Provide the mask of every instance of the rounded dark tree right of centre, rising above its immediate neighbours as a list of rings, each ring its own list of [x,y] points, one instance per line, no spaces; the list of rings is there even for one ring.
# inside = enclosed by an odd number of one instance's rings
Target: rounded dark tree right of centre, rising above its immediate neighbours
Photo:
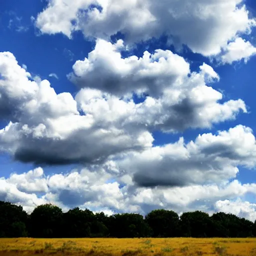
[[[145,216],[155,237],[175,237],[179,233],[179,217],[172,210],[156,209]]]

